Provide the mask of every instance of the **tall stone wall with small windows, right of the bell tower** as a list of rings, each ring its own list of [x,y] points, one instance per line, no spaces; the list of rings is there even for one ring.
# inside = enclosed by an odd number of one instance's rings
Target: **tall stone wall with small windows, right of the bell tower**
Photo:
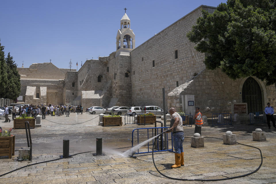
[[[162,107],[162,88],[168,93],[205,69],[204,53],[197,52],[186,37],[202,8],[215,10],[199,7],[131,51],[133,105]]]

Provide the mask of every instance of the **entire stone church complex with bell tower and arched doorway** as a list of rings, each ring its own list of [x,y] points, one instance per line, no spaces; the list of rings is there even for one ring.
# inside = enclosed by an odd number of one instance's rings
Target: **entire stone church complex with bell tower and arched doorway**
[[[205,54],[197,52],[186,37],[202,9],[212,13],[216,7],[201,5],[138,47],[125,13],[118,24],[116,51],[109,56],[87,60],[78,71],[52,63],[18,68],[20,100],[28,104],[81,104],[84,108],[162,108],[165,88],[168,108],[176,107],[186,114],[193,114],[195,106],[207,116],[231,112],[233,103],[247,103],[248,113],[264,111],[267,102],[275,106],[274,85],[265,86],[255,77],[234,81],[219,69],[206,69]]]

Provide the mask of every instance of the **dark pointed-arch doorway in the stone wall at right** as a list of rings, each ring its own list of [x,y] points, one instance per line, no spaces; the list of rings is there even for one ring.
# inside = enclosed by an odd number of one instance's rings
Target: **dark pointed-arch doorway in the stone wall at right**
[[[257,81],[248,77],[242,87],[242,102],[247,103],[248,113],[262,111],[262,92]]]

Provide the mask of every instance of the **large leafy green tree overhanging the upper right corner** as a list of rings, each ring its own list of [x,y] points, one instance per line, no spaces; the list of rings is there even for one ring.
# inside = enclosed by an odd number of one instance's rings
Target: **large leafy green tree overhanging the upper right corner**
[[[206,68],[221,68],[232,79],[256,76],[272,85],[275,30],[275,0],[228,0],[212,14],[202,11],[187,37],[197,51],[206,53]]]

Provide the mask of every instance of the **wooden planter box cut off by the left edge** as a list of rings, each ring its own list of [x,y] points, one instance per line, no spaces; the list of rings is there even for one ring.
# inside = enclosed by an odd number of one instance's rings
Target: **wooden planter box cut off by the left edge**
[[[14,143],[15,136],[0,137],[0,156],[9,156],[11,158],[14,155]]]

